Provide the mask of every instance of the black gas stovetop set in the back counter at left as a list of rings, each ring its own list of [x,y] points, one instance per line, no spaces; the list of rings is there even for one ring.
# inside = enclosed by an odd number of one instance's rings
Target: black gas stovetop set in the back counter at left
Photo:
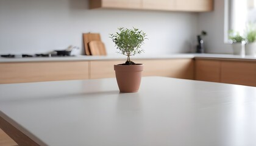
[[[4,55],[1,55],[1,57],[4,57],[4,58],[71,57],[71,56],[73,56],[73,55],[57,55],[57,54],[35,54],[35,55],[29,55],[29,54],[21,54],[21,55],[4,54]]]

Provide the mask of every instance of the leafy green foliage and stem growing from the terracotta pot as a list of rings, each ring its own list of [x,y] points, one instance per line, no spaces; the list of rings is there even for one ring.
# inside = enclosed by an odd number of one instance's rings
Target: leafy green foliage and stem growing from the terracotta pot
[[[135,63],[130,61],[130,56],[144,52],[141,46],[144,44],[143,41],[148,39],[145,38],[146,33],[134,27],[133,29],[124,29],[121,27],[118,30],[119,32],[110,34],[110,38],[112,38],[119,53],[127,56],[127,61],[124,64],[133,65]]]

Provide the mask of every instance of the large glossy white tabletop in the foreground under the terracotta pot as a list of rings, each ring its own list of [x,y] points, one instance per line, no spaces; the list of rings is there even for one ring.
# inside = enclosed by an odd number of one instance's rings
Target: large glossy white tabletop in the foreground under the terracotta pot
[[[0,111],[40,145],[256,145],[249,86],[143,77],[124,94],[115,78],[5,84]]]

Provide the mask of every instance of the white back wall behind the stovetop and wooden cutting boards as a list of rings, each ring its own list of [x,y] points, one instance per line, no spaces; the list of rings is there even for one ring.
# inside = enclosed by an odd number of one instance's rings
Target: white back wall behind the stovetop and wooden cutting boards
[[[143,46],[147,54],[189,52],[198,32],[197,16],[189,12],[88,10],[87,0],[0,0],[0,54],[46,53],[69,45],[79,46],[83,54],[82,33],[87,32],[100,33],[107,53],[116,54],[108,34],[132,26],[148,34]]]

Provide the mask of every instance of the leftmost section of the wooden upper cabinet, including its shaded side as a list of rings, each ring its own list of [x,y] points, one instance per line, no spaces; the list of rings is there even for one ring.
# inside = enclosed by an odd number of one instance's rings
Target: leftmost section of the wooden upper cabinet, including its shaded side
[[[141,9],[142,0],[90,0],[90,9],[118,8]]]

